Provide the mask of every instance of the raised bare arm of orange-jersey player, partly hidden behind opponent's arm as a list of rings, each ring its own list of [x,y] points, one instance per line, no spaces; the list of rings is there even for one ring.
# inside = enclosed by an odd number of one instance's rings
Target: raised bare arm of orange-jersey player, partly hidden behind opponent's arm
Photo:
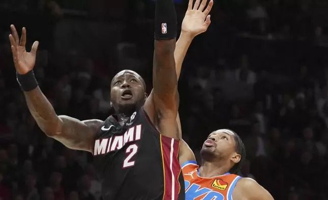
[[[178,79],[180,77],[182,62],[187,53],[187,49],[189,48],[190,43],[192,42],[194,37],[205,32],[209,24],[211,23],[210,15],[208,14],[212,9],[213,1],[210,0],[208,6],[204,10],[206,2],[207,0],[202,0],[202,3],[200,4],[200,0],[197,0],[195,2],[195,5],[193,6],[193,0],[189,0],[188,9],[182,21],[181,34],[176,43],[176,48],[174,52],[175,68]],[[195,161],[196,159],[192,149],[190,149],[188,144],[182,139],[179,114],[177,115],[177,123],[179,129],[179,137],[181,140],[179,162],[182,165],[187,161]]]

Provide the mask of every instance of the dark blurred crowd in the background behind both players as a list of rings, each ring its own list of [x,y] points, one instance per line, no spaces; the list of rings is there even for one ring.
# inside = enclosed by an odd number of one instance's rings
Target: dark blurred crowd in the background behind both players
[[[179,22],[186,4],[177,1]],[[104,120],[119,70],[139,72],[151,89],[153,8],[147,0],[1,1],[0,199],[101,198],[92,155],[47,138],[31,117],[10,24],[27,28],[28,46],[40,41],[35,74],[57,114]],[[243,177],[275,199],[328,199],[327,9],[325,0],[214,1],[179,81],[183,138],[199,161],[207,135],[229,128],[247,149]]]

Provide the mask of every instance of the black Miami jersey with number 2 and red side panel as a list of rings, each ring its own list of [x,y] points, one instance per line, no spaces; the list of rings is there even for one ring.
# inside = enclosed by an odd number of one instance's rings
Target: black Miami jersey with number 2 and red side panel
[[[116,116],[99,127],[94,167],[104,200],[184,200],[179,141],[160,135],[143,107],[121,126]]]

